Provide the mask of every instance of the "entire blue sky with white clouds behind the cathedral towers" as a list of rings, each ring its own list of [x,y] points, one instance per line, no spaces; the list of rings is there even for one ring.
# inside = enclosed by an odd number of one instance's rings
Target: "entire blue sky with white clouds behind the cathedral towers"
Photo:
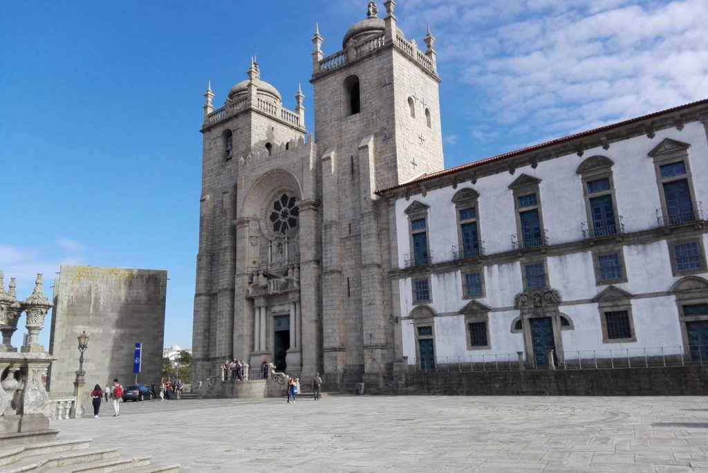
[[[378,2],[383,12],[382,1]],[[399,0],[437,42],[445,166],[708,96],[704,0]],[[341,48],[364,0],[5,2],[0,269],[29,295],[59,265],[169,273],[165,346],[192,345],[202,105],[263,79],[312,130],[312,33]],[[24,317],[21,325],[24,324]],[[47,327],[50,321],[47,319]],[[40,341],[48,346],[48,329]],[[18,336],[21,331],[18,330]],[[17,343],[17,338],[14,340]]]

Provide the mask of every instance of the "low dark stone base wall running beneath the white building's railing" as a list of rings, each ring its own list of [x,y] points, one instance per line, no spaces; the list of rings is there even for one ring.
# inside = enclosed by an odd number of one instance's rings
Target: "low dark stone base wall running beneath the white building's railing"
[[[380,393],[461,396],[703,396],[708,366],[409,373]]]

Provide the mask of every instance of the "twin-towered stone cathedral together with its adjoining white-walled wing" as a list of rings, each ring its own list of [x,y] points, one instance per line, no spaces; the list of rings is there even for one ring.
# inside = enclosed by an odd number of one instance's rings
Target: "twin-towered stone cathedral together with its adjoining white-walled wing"
[[[265,360],[376,392],[450,358],[708,346],[708,101],[445,170],[435,38],[383,6],[333,55],[314,33],[316,142],[256,62],[207,89],[193,379]]]

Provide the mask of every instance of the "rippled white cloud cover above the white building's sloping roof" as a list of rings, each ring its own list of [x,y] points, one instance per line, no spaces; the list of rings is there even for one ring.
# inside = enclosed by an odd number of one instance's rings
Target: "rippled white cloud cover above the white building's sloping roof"
[[[467,96],[457,103],[506,128],[506,142],[525,139],[514,132],[559,137],[707,95],[705,0],[410,0],[399,10],[413,17],[405,28],[430,22],[443,79]]]

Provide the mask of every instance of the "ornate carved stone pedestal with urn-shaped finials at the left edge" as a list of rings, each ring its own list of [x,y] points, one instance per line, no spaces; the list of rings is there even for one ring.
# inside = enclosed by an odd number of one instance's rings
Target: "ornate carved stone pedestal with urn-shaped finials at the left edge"
[[[38,342],[45,317],[52,302],[42,293],[42,275],[37,275],[35,289],[23,302],[16,295],[15,278],[5,292],[4,274],[0,271],[0,433],[45,431],[49,396],[42,374],[52,363],[52,356]],[[11,345],[20,315],[27,315],[27,343],[20,351]]]

